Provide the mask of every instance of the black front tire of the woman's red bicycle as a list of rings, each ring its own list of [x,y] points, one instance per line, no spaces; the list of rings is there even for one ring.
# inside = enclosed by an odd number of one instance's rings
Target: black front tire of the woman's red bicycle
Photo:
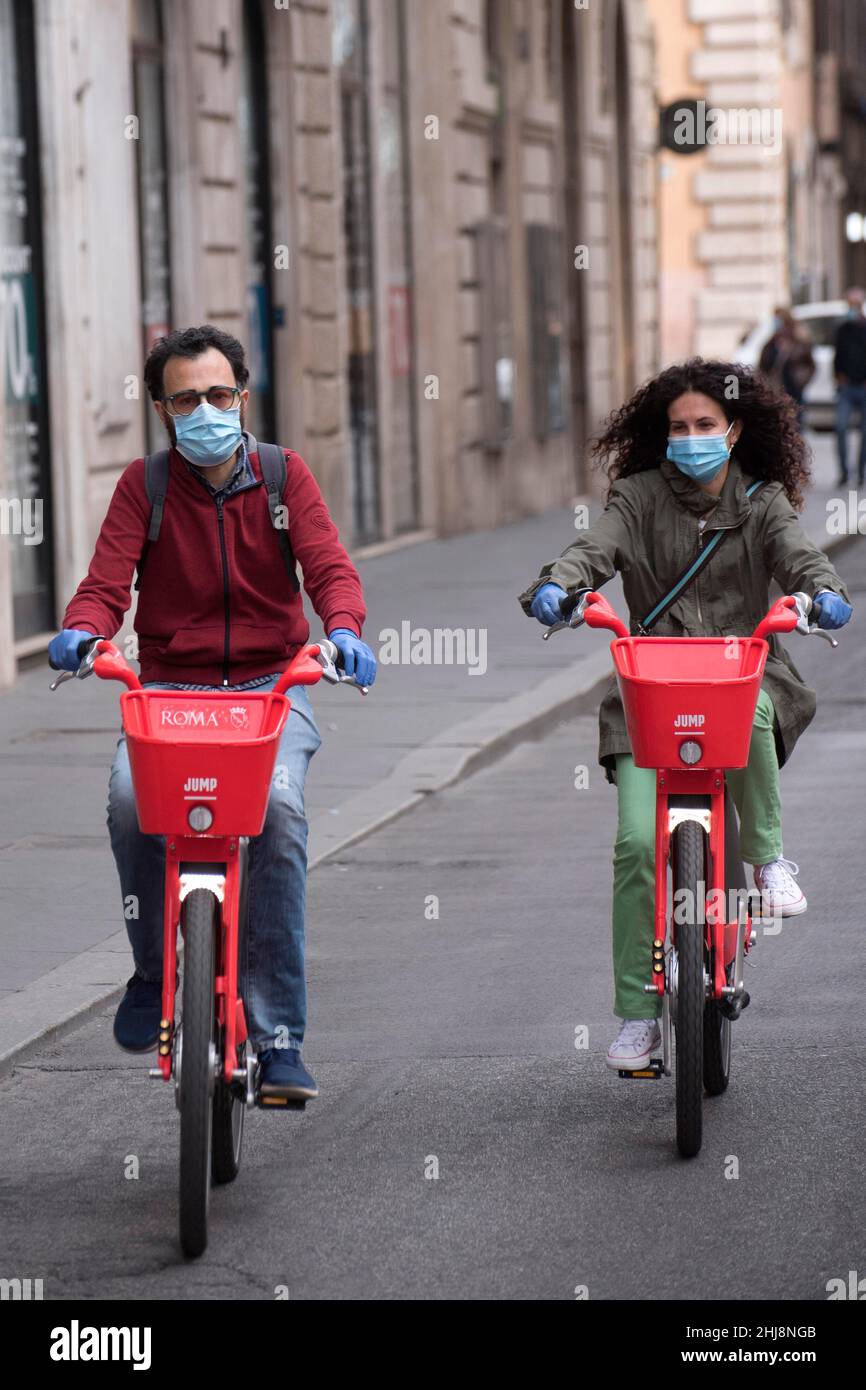
[[[677,948],[677,1148],[683,1158],[701,1150],[703,1127],[703,935],[698,912],[705,895],[705,833],[684,820],[674,833],[674,887],[678,903]],[[688,897],[687,897],[688,894]],[[684,908],[685,905],[685,908]],[[683,920],[685,919],[685,920]]]

